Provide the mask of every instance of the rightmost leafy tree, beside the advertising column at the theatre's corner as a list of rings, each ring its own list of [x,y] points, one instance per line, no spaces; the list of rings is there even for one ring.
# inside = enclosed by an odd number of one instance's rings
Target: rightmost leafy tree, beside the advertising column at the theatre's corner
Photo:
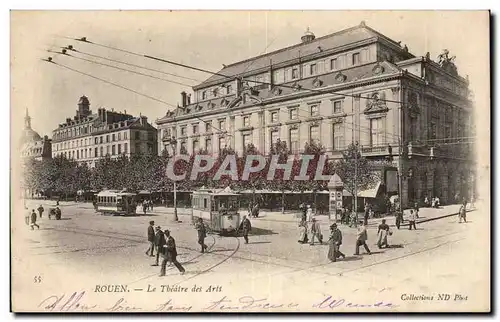
[[[342,152],[342,159],[334,165],[334,171],[344,182],[344,189],[355,196],[355,191],[366,190],[376,183],[377,175],[372,164],[361,155],[357,144],[350,144]]]

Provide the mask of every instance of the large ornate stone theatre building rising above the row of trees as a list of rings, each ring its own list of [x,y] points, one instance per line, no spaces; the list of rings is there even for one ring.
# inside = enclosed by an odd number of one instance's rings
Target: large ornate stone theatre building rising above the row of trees
[[[224,65],[181,93],[180,106],[157,120],[159,151],[241,153],[252,143],[268,153],[279,138],[294,153],[317,141],[340,158],[358,142],[375,161],[392,152],[403,204],[451,202],[470,194],[473,180],[468,79],[448,51],[421,54],[364,22],[319,38],[308,30],[297,44]],[[397,176],[384,180],[397,192]]]

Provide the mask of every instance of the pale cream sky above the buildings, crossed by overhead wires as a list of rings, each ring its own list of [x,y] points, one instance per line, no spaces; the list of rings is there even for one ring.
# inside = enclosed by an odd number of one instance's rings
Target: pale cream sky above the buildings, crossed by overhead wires
[[[25,109],[40,135],[52,134],[73,117],[80,96],[91,109],[99,107],[146,115],[154,122],[180,103],[180,92],[210,77],[143,57],[101,48],[63,37],[80,38],[139,54],[148,54],[211,71],[300,42],[306,28],[316,37],[358,25],[361,21],[406,44],[411,53],[431,58],[443,49],[456,56],[460,75],[469,75],[479,117],[489,124],[489,20],[485,11],[12,11],[11,124],[12,139],[22,130]],[[182,79],[126,67],[185,85],[118,71],[46,52],[72,44],[77,50],[174,73]],[[100,77],[136,93],[49,64],[42,58]],[[98,60],[88,56],[79,56]],[[486,123],[484,123],[486,124]],[[488,129],[480,129],[487,130]],[[486,132],[487,134],[487,132]]]

